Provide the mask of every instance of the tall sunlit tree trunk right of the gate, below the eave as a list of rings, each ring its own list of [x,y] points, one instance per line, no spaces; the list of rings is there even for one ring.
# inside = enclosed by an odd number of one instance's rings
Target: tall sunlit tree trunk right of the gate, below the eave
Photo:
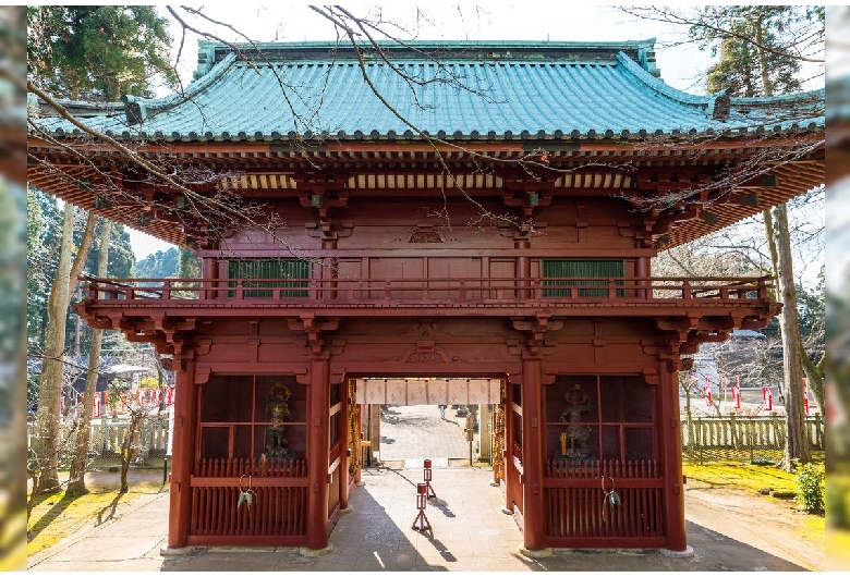
[[[782,337],[781,401],[785,405],[786,444],[781,467],[791,471],[794,461],[809,463],[811,455],[805,435],[803,410],[803,366],[800,355],[800,321],[797,312],[797,292],[793,283],[791,241],[788,233],[788,211],[781,204],[765,211],[765,233],[770,248],[777,299],[782,304],[779,329]]]

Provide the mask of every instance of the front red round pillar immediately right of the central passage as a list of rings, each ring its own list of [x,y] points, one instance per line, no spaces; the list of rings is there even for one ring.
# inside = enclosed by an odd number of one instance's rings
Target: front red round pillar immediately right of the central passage
[[[544,549],[543,391],[538,358],[522,360],[522,514],[523,540],[530,551]]]

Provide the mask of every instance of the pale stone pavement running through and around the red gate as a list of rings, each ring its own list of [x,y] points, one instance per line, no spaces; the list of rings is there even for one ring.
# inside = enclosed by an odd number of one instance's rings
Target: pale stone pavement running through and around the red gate
[[[186,555],[161,556],[168,519],[168,492],[145,495],[131,502],[116,519],[71,536],[27,562],[28,570],[177,570],[177,572],[253,572],[253,570],[461,570],[461,572],[533,572],[533,570],[811,570],[817,568],[804,560],[786,554],[781,548],[758,540],[729,535],[754,535],[757,527],[741,533],[729,530],[741,521],[728,515],[701,512],[699,520],[689,515],[689,545],[693,555],[665,556],[658,551],[561,551],[549,557],[530,558],[519,551],[522,532],[513,517],[501,512],[503,493],[491,487],[487,468],[458,466],[456,459],[466,456],[467,445],[462,427],[454,419],[440,421],[437,407],[391,407],[399,415],[397,427],[384,427],[381,437],[393,442],[384,446],[410,447],[410,458],[389,452],[392,463],[415,465],[402,468],[364,469],[365,484],[354,490],[350,513],[341,515],[330,535],[329,551],[323,555],[305,554],[296,548],[199,549]],[[398,410],[403,409],[403,410]],[[415,415],[418,413],[418,415]],[[449,417],[447,412],[447,417]],[[462,420],[462,419],[457,419]],[[418,421],[418,422],[417,422]],[[427,422],[423,422],[427,421]],[[406,425],[405,425],[406,423]],[[427,428],[427,438],[423,437]],[[458,443],[458,438],[460,443]],[[437,457],[452,466],[434,470],[433,487],[437,499],[425,511],[429,531],[412,528],[416,516],[415,487],[422,482],[421,458],[414,454],[424,443]],[[440,444],[453,446],[439,453]],[[465,453],[450,457],[459,449]],[[444,456],[445,455],[445,456]],[[381,454],[386,458],[387,453]],[[689,510],[687,502],[685,510]],[[704,507],[703,507],[704,508]],[[753,547],[750,541],[756,542]],[[822,567],[821,567],[822,568]]]

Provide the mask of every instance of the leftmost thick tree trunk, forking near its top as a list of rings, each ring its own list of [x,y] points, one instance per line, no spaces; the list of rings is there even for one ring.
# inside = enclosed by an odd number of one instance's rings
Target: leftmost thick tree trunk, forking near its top
[[[60,439],[60,398],[62,396],[63,361],[65,347],[65,327],[68,324],[68,305],[71,300],[76,277],[85,262],[95,228],[95,216],[89,214],[86,230],[80,243],[76,258],[71,263],[74,249],[74,207],[65,204],[62,224],[62,241],[50,297],[47,304],[47,330],[45,335],[45,355],[41,361],[41,383],[38,390],[38,413],[36,416],[36,438],[34,450],[37,454],[41,478],[41,492],[58,492]]]

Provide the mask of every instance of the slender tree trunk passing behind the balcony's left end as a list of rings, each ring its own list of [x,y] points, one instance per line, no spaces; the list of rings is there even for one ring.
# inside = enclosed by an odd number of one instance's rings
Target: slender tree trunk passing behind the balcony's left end
[[[100,224],[100,254],[97,260],[97,275],[107,275],[109,265],[109,237],[112,234],[112,222],[101,220]],[[88,353],[88,372],[86,373],[86,388],[83,394],[83,414],[80,416],[80,429],[76,434],[76,446],[71,461],[71,472],[68,480],[66,492],[87,493],[85,475],[88,463],[88,451],[92,444],[92,403],[94,401],[98,367],[100,366],[100,343],[104,340],[104,331],[95,329],[92,333],[92,346]]]

